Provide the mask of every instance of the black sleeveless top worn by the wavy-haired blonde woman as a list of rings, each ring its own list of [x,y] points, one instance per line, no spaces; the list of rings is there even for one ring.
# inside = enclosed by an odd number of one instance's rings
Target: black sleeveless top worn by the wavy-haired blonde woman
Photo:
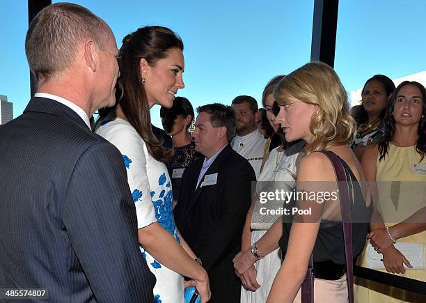
[[[372,214],[372,203],[370,207],[365,205],[361,187],[356,177],[347,163],[339,157],[340,162],[345,168],[349,189],[353,187],[351,202],[352,218],[352,256],[356,258],[364,248],[365,240],[370,226]],[[296,205],[295,201],[290,202]],[[283,224],[283,235],[279,241],[283,256],[287,251],[290,229],[292,227],[291,219],[286,219]],[[321,220],[315,246],[313,249],[313,262],[333,261],[338,265],[346,264],[345,260],[345,242],[343,238],[343,227],[341,221]]]

